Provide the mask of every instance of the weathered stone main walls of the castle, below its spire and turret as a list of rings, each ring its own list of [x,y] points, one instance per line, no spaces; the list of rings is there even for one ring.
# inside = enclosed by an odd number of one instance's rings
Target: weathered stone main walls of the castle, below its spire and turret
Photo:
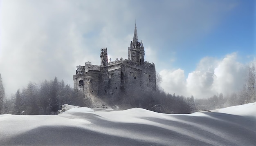
[[[156,90],[155,65],[149,62],[117,61],[108,64],[108,72],[101,70],[74,75],[74,88],[83,91],[85,97],[112,97],[116,100],[124,97],[122,95]]]

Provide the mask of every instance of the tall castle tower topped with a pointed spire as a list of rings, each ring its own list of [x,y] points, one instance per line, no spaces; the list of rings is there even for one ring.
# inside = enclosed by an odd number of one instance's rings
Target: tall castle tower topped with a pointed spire
[[[142,64],[144,63],[144,55],[144,46],[142,42],[139,42],[138,40],[137,26],[135,23],[133,40],[130,43],[130,47],[128,47],[128,60],[132,60]]]

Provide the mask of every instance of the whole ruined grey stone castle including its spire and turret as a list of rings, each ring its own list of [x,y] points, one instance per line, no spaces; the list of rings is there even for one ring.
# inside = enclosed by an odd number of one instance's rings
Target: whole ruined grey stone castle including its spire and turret
[[[128,47],[128,60],[120,58],[108,62],[107,48],[101,49],[101,65],[85,62],[76,66],[73,75],[74,88],[83,91],[85,97],[113,97],[119,99],[132,92],[155,92],[155,64],[144,61],[144,46],[138,41],[135,23],[133,40]]]

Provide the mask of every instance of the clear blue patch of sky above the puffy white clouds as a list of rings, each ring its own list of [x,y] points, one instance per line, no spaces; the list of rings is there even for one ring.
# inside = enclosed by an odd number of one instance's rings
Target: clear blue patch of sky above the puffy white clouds
[[[189,40],[177,44],[174,48],[169,48],[169,40],[165,40],[164,51],[175,51],[175,56],[179,56],[173,62],[173,67],[186,69],[185,72],[188,74],[205,56],[223,58],[228,53],[237,52],[240,56],[239,61],[243,63],[255,57],[255,3],[233,2],[239,4],[224,13],[225,16],[220,18],[221,20],[211,31],[194,33]],[[158,57],[168,58],[168,55],[168,53],[159,54]]]

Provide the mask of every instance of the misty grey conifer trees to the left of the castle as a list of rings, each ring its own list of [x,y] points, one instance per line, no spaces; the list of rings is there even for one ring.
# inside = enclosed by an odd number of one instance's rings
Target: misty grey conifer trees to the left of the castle
[[[1,85],[0,85],[1,87]],[[17,115],[55,115],[63,104],[90,106],[90,100],[84,98],[83,93],[73,90],[63,80],[29,82],[26,88],[18,89],[11,98],[2,99],[2,114]]]

